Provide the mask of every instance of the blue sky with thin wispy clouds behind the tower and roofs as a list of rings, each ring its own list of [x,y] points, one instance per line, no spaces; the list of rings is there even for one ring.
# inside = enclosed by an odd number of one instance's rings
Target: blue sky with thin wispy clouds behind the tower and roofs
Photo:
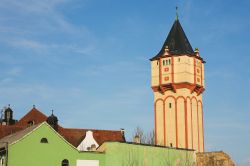
[[[205,148],[250,165],[248,0],[1,0],[0,106],[65,127],[153,128],[150,63],[175,19],[206,60]]]

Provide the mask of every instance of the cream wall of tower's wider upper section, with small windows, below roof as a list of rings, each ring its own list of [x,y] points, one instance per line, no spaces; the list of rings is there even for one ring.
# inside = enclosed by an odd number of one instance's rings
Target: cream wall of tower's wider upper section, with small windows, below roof
[[[165,57],[151,62],[151,85],[188,82],[205,85],[204,63],[187,55]]]

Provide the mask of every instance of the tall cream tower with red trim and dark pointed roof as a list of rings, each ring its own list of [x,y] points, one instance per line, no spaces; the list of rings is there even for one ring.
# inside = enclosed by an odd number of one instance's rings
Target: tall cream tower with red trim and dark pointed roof
[[[204,63],[178,17],[160,52],[150,59],[157,145],[204,151]]]

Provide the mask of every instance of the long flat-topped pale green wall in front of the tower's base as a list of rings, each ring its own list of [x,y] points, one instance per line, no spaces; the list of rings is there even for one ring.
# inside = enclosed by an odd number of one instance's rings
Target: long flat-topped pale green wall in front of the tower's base
[[[106,166],[193,166],[194,151],[107,142]]]

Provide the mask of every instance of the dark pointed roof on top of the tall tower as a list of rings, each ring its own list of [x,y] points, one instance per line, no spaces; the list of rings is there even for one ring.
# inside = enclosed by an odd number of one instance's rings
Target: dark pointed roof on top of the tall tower
[[[168,47],[170,55],[195,54],[178,19],[175,20],[160,52],[151,60],[157,59],[158,57],[162,56],[166,47]]]

